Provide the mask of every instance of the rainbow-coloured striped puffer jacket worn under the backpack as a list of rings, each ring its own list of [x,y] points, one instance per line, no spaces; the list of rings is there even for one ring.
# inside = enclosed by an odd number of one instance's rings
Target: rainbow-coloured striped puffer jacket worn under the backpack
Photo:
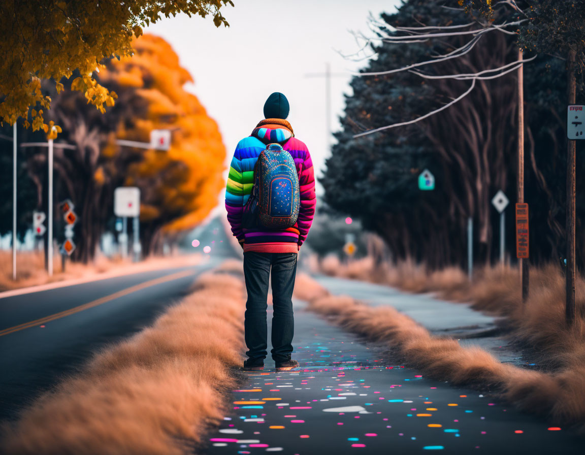
[[[301,205],[297,223],[288,229],[273,230],[266,227],[245,229],[242,226],[243,206],[252,192],[254,164],[266,144],[279,143],[288,150],[297,165]],[[262,120],[252,135],[240,140],[233,154],[229,169],[228,187],[225,192],[225,208],[233,235],[244,251],[260,253],[297,253],[307,238],[315,215],[315,177],[311,155],[304,143],[294,137],[287,120]]]

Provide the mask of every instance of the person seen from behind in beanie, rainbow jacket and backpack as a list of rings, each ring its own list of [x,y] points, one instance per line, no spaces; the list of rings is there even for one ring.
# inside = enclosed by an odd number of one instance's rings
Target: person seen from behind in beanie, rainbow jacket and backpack
[[[229,170],[225,206],[244,251],[246,280],[244,370],[263,370],[267,356],[266,309],[272,278],[272,359],[277,371],[298,367],[291,359],[292,291],[297,255],[315,214],[315,177],[307,146],[286,120],[287,98],[275,92],[264,119],[240,140]]]

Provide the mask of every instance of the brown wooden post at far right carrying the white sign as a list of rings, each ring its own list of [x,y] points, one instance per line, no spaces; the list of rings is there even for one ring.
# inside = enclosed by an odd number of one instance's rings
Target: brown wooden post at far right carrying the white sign
[[[575,104],[575,51],[569,53],[569,104]],[[575,307],[575,148],[574,140],[567,140],[567,270],[565,319],[572,325],[576,317]]]

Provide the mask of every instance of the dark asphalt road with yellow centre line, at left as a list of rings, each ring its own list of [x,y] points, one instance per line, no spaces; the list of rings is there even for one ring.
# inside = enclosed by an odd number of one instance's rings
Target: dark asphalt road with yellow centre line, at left
[[[198,274],[233,256],[223,246],[225,238],[215,222],[198,232],[199,250],[213,246],[199,266],[0,298],[0,420],[15,418],[23,405],[74,373],[91,353],[149,325],[180,300]]]

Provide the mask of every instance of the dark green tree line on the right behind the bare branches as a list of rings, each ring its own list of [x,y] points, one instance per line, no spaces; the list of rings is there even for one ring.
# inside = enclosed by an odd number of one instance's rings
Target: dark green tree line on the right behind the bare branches
[[[550,2],[532,3],[542,4],[538,10],[541,16],[537,17],[541,20]],[[518,4],[529,10],[529,5]],[[487,10],[483,16],[477,12],[482,6]],[[584,11],[567,9],[564,13],[580,17]],[[400,27],[441,26],[465,31],[477,29],[482,20],[493,21],[494,17],[499,17],[500,22],[516,18],[528,22],[528,16],[494,9],[491,2],[480,0],[409,0],[397,12],[381,15],[376,26],[381,38],[400,36]],[[571,20],[579,23],[579,17]],[[562,20],[558,23],[559,27],[563,25]],[[535,27],[544,29],[542,20],[531,19],[526,26],[529,33],[520,33],[521,44],[529,47],[525,58],[545,47],[542,36],[546,34],[538,35]],[[469,89],[469,81],[432,76],[477,74],[486,68],[505,66],[517,58],[517,33],[486,34],[469,50],[465,47],[469,36],[421,38],[409,43],[378,40],[369,44],[376,58],[368,60],[361,73],[384,73],[427,61],[429,56],[436,58],[466,49],[459,58],[422,67],[420,71],[426,77],[412,71],[357,75],[351,82],[353,94],[346,96],[340,119],[342,129],[335,134],[338,143],[326,161],[321,180],[325,201],[333,209],[360,219],[366,229],[383,237],[395,258],[411,257],[431,267],[464,266],[467,218],[471,217],[476,261],[494,261],[498,257],[499,216],[491,206],[491,198],[499,189],[511,202],[506,218],[507,251],[515,257],[516,71],[474,81],[476,85],[469,95],[420,122],[367,136],[355,135],[418,118],[452,102]],[[583,42],[579,33],[577,44]],[[538,40],[531,41],[530,36]],[[582,70],[583,43],[580,46],[577,63]],[[550,49],[542,50],[524,64],[525,202],[530,207],[531,261],[562,263],[566,241],[567,61]],[[579,99],[583,101],[582,96],[583,73],[577,71],[577,104]],[[435,175],[434,191],[418,189],[418,175],[425,168]],[[585,160],[578,155],[577,195],[585,189],[585,182],[579,178],[583,171]],[[585,202],[577,197],[578,233],[582,232],[584,215]],[[577,235],[577,257],[585,257],[583,253],[585,242]]]

